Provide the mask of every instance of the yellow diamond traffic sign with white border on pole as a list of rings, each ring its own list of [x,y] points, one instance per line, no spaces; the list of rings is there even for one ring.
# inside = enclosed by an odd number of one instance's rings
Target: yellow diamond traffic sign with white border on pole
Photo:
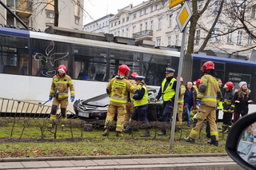
[[[178,12],[178,15],[176,17],[176,21],[181,32],[184,30],[187,23],[190,21],[191,17],[192,12],[190,10],[190,4],[188,2],[185,2],[182,6],[182,9]]]

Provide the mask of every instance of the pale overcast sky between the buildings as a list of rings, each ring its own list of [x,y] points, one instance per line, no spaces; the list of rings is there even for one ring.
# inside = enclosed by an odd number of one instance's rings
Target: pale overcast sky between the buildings
[[[106,14],[117,14],[118,9],[129,6],[130,3],[136,6],[147,0],[84,0],[84,8],[94,20],[106,16]],[[86,13],[84,14],[83,25],[93,22]]]

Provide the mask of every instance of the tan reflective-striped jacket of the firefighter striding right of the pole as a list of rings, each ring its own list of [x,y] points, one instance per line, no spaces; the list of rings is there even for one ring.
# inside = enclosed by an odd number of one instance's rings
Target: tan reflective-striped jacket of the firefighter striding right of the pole
[[[206,86],[205,93],[200,92],[201,85]],[[216,108],[220,100],[220,99],[217,99],[217,93],[219,92],[220,92],[220,89],[218,87],[218,81],[210,74],[205,74],[201,78],[201,82],[198,89],[198,99],[202,100],[202,105]]]

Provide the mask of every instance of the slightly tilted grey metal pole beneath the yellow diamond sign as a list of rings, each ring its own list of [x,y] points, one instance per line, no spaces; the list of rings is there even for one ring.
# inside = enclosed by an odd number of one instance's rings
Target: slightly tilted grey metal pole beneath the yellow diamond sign
[[[181,47],[181,53],[180,53],[179,62],[178,62],[178,80],[177,80],[177,85],[175,89],[176,94],[174,99],[173,121],[170,129],[170,150],[173,149],[173,146],[174,146],[174,129],[176,125],[176,115],[177,115],[177,107],[178,107],[178,91],[179,91],[180,78],[182,75],[185,38],[186,38],[186,27],[182,32],[182,47]]]

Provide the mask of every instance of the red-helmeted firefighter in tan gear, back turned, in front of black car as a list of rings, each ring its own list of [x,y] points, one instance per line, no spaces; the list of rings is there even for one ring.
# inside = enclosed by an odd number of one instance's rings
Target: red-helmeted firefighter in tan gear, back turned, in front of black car
[[[109,135],[109,125],[114,120],[114,115],[118,112],[118,121],[116,126],[116,136],[122,135],[123,123],[126,117],[126,103],[128,92],[135,93],[138,89],[142,89],[144,81],[140,82],[138,86],[132,85],[127,80],[130,68],[127,65],[120,65],[118,68],[118,75],[111,79],[106,87],[106,93],[110,96],[110,105],[107,109],[105,131],[102,136]]]

